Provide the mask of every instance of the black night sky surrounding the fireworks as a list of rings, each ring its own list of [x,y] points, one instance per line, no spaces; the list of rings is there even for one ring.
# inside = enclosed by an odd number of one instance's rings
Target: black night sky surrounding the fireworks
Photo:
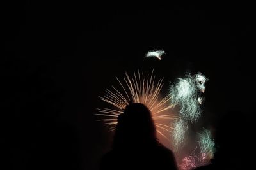
[[[3,8],[1,153],[9,169],[96,169],[109,149],[106,128],[95,121],[98,96],[125,71],[154,68],[166,85],[200,71],[209,78],[202,125],[218,125],[228,111],[252,117],[250,4],[20,1]],[[164,49],[163,60],[145,60],[151,49]]]

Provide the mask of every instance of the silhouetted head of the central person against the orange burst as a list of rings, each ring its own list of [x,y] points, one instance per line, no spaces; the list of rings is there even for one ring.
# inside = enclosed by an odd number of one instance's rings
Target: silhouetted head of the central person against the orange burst
[[[144,146],[157,143],[156,127],[148,108],[141,103],[130,103],[118,117],[115,147]]]

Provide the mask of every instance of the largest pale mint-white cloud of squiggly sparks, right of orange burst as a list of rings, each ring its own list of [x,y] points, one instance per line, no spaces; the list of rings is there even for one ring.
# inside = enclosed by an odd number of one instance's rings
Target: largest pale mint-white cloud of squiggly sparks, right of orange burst
[[[205,81],[207,78],[202,74],[188,74],[186,78],[179,78],[175,85],[170,85],[172,104],[179,104],[180,115],[190,122],[196,122],[200,117],[203,101],[200,92],[205,91]]]

